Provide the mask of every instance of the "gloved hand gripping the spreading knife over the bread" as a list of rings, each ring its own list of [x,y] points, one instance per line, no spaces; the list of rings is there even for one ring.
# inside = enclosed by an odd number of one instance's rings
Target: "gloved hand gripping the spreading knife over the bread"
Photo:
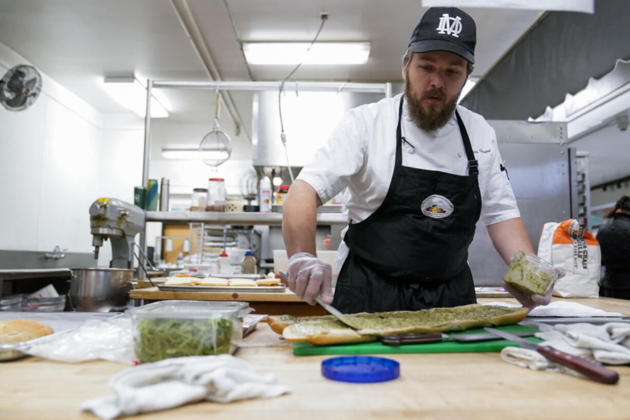
[[[289,289],[309,305],[318,295],[325,303],[333,301],[333,267],[308,252],[298,252],[287,265]]]

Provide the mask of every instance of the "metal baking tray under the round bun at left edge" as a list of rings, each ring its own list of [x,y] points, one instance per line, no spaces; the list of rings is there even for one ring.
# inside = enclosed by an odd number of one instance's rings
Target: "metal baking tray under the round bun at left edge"
[[[53,334],[44,335],[29,341],[0,344],[0,361],[9,361],[28,356],[28,354],[20,351],[22,346],[75,329],[88,320],[105,320],[119,317],[120,315],[122,315],[122,312],[0,312],[0,321],[32,319],[49,325],[54,331]]]

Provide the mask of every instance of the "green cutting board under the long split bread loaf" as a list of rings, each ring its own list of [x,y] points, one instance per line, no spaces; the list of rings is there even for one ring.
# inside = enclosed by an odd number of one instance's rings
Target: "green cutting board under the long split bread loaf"
[[[497,329],[508,332],[536,331],[537,329],[525,327],[525,325],[507,325]],[[476,334],[487,332],[477,328],[449,334]],[[541,342],[536,337],[525,337],[532,342]],[[335,344],[331,346],[315,346],[306,341],[293,343],[295,356],[314,356],[316,354],[396,354],[396,353],[468,353],[473,351],[501,351],[503,347],[518,346],[512,341],[496,339],[477,342],[443,341],[427,344],[403,344],[402,346],[386,346],[380,341],[364,342],[358,344]]]

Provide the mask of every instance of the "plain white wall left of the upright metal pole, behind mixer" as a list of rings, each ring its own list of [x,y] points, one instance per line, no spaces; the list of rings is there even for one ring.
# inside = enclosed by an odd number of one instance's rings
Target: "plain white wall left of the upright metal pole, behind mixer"
[[[29,63],[0,44],[0,73],[16,64]],[[92,252],[89,206],[106,195],[132,201],[142,180],[143,134],[104,127],[103,115],[88,103],[42,78],[30,108],[0,106],[0,249],[50,251],[59,244]],[[100,265],[111,255],[103,251]]]

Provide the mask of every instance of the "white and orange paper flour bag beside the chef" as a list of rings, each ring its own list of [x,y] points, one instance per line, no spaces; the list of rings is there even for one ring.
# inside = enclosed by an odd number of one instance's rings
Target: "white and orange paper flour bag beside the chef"
[[[556,282],[553,294],[563,298],[597,298],[599,296],[599,243],[575,219],[562,223],[545,223],[538,256],[564,269],[566,275]]]

